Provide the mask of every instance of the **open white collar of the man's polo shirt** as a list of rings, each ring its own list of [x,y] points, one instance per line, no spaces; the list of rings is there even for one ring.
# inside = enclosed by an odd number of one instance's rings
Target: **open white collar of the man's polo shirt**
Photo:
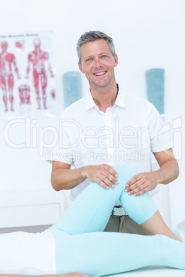
[[[117,88],[119,88],[118,85],[117,85]],[[86,109],[87,110],[90,110],[92,107],[97,107],[90,91],[86,95],[85,99],[86,99]],[[125,107],[125,96],[121,90],[118,90],[115,105],[117,105],[119,107]]]

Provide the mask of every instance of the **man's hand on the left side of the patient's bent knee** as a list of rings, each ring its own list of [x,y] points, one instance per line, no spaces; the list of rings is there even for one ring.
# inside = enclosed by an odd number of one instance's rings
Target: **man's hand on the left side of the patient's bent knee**
[[[118,183],[115,178],[118,174],[110,165],[88,165],[86,176],[90,181],[98,183],[105,189],[115,187],[114,184]]]

